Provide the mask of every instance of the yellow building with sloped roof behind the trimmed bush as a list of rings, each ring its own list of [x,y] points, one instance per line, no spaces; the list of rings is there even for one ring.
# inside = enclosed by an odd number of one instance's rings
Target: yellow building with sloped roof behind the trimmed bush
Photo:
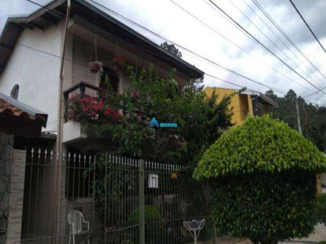
[[[206,87],[204,92],[208,97],[211,97],[213,91],[219,95],[218,102],[220,102],[224,96],[235,93],[236,89],[219,88],[219,87]],[[267,97],[266,95],[255,92],[254,90],[244,90],[240,94],[236,94],[232,97],[230,108],[233,107],[232,123],[236,125],[242,125],[248,116],[257,115],[259,105],[261,105],[263,113],[267,113],[267,106],[278,107],[278,104]]]

